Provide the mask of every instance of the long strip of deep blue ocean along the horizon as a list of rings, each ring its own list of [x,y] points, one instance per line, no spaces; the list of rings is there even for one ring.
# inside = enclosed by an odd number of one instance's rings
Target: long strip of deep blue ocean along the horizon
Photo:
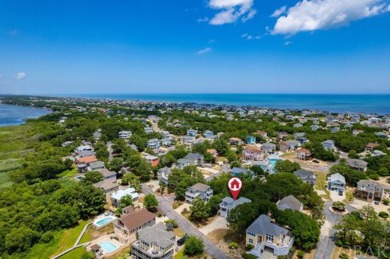
[[[88,94],[78,97],[390,114],[390,94]]]

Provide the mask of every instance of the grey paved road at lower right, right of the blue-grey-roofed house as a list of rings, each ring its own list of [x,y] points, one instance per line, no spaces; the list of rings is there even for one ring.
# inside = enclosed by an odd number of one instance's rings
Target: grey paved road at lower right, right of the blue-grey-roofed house
[[[328,226],[328,231],[322,231],[320,242],[317,245],[317,251],[314,255],[314,259],[331,259],[332,253],[335,248],[335,234],[336,231],[333,227],[340,222],[342,215],[333,213],[329,208],[332,206],[333,201],[326,201],[324,205],[325,224]],[[356,208],[346,205],[346,209],[356,211]],[[324,228],[325,226],[323,226]],[[324,233],[325,232],[325,233]]]

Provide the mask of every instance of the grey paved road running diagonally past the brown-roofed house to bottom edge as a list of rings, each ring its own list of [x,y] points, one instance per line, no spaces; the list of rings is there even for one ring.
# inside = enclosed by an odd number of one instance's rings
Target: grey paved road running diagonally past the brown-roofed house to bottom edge
[[[153,193],[153,191],[145,184],[142,185],[142,192],[144,194]],[[156,196],[159,207],[161,211],[170,219],[174,219],[177,224],[188,234],[198,236],[203,240],[205,246],[205,251],[210,254],[213,258],[217,259],[228,259],[230,258],[225,252],[219,249],[214,245],[209,239],[206,238],[194,225],[192,225],[188,220],[183,216],[177,213],[172,209],[172,202],[174,197],[171,195],[169,197]]]

